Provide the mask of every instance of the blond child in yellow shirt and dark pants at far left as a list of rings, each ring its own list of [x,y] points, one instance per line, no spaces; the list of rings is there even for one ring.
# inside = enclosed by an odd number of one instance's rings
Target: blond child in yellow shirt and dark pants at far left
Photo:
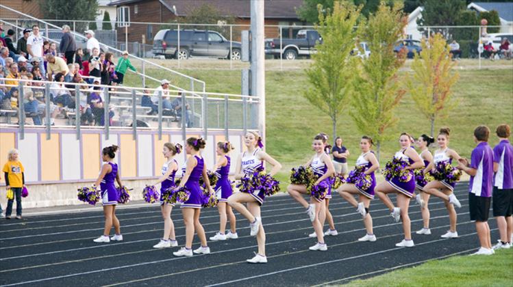
[[[9,151],[8,162],[3,165],[3,174],[5,176],[5,184],[7,189],[12,189],[16,196],[16,219],[21,219],[21,190],[25,187],[25,169],[18,161],[18,150]],[[5,209],[5,219],[11,219],[12,202],[14,198],[10,198]]]

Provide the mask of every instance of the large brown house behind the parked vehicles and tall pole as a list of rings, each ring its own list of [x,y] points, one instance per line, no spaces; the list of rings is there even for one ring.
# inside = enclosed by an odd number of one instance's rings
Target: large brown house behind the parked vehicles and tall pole
[[[225,13],[225,16],[234,16],[236,24],[249,25],[251,21],[251,8],[249,0],[118,0],[110,5],[115,6],[118,14],[128,14],[130,22],[145,23],[171,23],[179,17],[199,8],[203,4],[214,6]],[[279,37],[278,25],[306,25],[296,14],[296,8],[303,4],[303,0],[266,0],[264,9],[265,37]],[[121,17],[120,17],[121,18]],[[145,35],[147,43],[153,42],[153,37],[162,25],[131,24],[128,29],[128,41],[140,42],[141,35]],[[282,29],[285,38],[292,38],[299,28],[286,27]],[[234,34],[234,40],[240,39],[240,33]],[[125,29],[118,28],[118,41],[125,41]]]

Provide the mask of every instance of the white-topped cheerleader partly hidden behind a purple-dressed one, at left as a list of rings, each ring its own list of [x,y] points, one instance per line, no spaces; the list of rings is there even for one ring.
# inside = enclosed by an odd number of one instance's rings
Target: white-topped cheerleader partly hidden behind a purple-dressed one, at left
[[[164,202],[162,194],[164,191],[174,187],[175,185],[175,174],[178,169],[178,163],[176,159],[173,158],[181,151],[182,145],[179,143],[164,143],[164,148],[162,148],[162,154],[164,154],[166,162],[164,165],[162,165],[162,176],[160,176],[157,182],[155,182],[153,185],[160,183],[160,211],[162,213],[162,218],[164,219],[164,236],[162,236],[162,239],[160,239],[159,243],[153,245],[153,248],[168,248],[178,246],[178,242],[176,241],[175,237],[175,226],[173,225],[173,220],[171,219],[171,210],[173,210],[173,206],[175,206],[175,204],[167,204]]]

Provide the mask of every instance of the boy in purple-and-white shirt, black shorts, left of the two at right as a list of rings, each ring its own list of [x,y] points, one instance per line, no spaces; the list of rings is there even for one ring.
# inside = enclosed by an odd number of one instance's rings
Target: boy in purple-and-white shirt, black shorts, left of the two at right
[[[472,151],[471,164],[466,159],[458,161],[458,169],[462,169],[469,176],[471,182],[468,186],[468,209],[471,221],[475,221],[475,229],[479,237],[481,248],[475,255],[492,255],[492,242],[490,239],[490,226],[488,226],[488,213],[490,213],[490,199],[492,197],[493,182],[493,151],[488,146],[488,126],[478,126],[474,130],[474,141],[477,146]]]

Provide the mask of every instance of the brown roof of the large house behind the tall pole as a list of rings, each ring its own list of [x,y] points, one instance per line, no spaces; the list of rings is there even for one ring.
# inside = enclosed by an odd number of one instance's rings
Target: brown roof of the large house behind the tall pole
[[[118,0],[110,5],[126,5],[142,0]],[[210,4],[222,11],[227,16],[238,18],[251,18],[250,1],[248,0],[158,0],[168,10],[177,16],[187,16],[195,8]],[[296,9],[303,4],[303,0],[266,0],[264,5],[265,18],[290,18],[297,19]],[[176,11],[173,10],[173,6]]]

